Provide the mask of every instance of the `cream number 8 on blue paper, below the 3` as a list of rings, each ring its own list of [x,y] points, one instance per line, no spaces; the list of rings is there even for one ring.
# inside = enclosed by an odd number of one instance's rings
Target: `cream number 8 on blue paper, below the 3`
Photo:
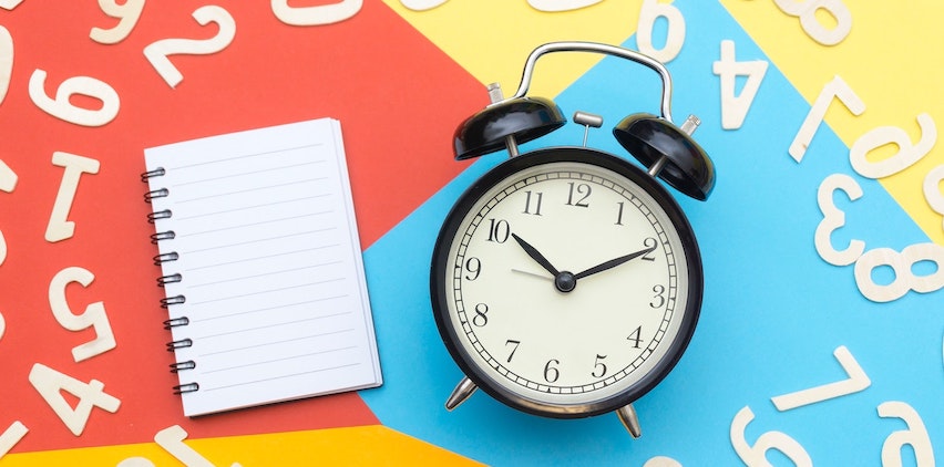
[[[916,276],[912,267],[921,261],[934,262],[936,270],[926,276]],[[872,280],[872,271],[880,266],[889,266],[895,272],[895,279],[887,286],[880,286]],[[874,302],[897,300],[909,290],[927,293],[944,288],[944,247],[916,243],[906,247],[901,253],[891,248],[870,250],[855,261],[855,284],[866,299]]]

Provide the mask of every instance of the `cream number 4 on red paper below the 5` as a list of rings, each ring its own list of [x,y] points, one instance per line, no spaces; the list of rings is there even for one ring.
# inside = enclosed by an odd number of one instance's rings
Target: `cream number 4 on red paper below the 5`
[[[92,408],[99,407],[105,412],[115,413],[121,406],[121,401],[104,392],[105,385],[101,381],[92,380],[84,383],[41,363],[33,364],[30,371],[30,383],[75,436],[85,430]],[[72,408],[62,396],[63,391],[79,398],[75,408]]]

